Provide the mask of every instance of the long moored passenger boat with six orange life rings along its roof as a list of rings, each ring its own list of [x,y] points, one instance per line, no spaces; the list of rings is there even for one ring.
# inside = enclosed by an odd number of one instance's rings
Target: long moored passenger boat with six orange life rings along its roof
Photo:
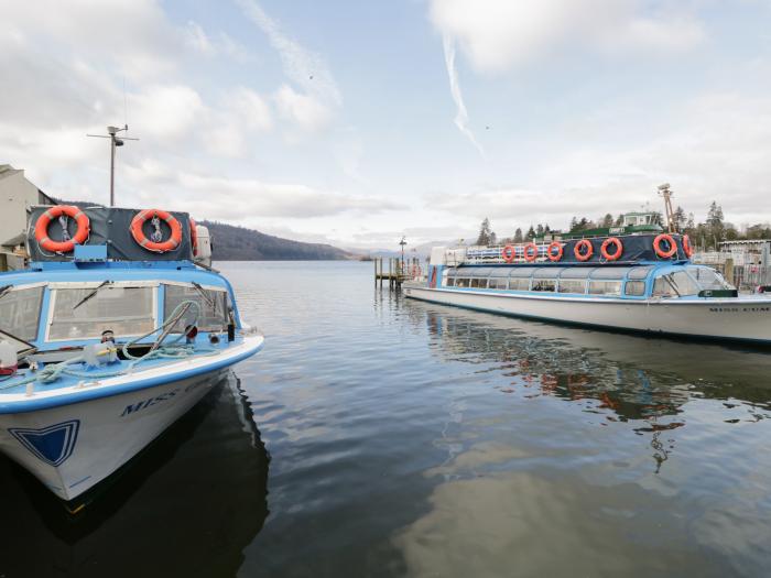
[[[771,343],[771,297],[738,295],[691,262],[687,236],[434,248],[408,297],[617,330]]]

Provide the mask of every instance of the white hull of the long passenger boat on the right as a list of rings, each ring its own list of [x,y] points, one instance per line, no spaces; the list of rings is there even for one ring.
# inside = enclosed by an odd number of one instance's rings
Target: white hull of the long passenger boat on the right
[[[771,343],[771,298],[587,298],[431,288],[405,283],[404,295],[470,309],[593,327]]]

